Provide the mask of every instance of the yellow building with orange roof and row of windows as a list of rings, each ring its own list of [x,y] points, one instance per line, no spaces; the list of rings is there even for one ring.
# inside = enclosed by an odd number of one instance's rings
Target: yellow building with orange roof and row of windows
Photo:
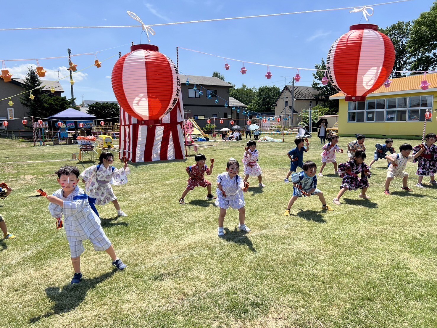
[[[423,74],[390,79],[389,87],[368,94],[366,101],[344,101],[341,92],[332,95],[330,99],[339,99],[338,133],[420,139],[426,110],[437,108],[437,73],[425,76],[427,90],[420,87],[423,79]],[[427,122],[427,133],[437,133],[436,114]]]

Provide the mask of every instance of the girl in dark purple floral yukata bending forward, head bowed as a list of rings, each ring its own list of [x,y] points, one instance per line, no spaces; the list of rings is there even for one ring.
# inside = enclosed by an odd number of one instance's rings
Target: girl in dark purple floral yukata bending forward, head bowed
[[[352,161],[342,163],[338,166],[338,171],[343,181],[340,185],[340,192],[337,197],[333,199],[335,205],[341,205],[340,197],[347,190],[357,190],[361,189],[361,195],[358,197],[362,199],[370,199],[366,195],[367,188],[369,187],[368,178],[370,178],[370,170],[364,160],[366,159],[366,153],[362,150],[357,150],[355,152],[355,157]]]

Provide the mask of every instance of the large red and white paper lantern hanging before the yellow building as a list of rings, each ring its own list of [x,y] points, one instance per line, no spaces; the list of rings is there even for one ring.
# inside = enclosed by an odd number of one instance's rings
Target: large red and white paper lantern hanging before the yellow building
[[[392,73],[395,48],[378,25],[357,24],[338,38],[328,52],[326,67],[333,87],[345,101],[365,101]]]

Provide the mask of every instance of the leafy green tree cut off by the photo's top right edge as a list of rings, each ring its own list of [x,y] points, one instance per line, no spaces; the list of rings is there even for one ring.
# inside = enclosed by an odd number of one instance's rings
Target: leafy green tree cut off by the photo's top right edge
[[[423,12],[413,21],[408,42],[412,63],[410,70],[435,70],[437,68],[437,1],[430,11]]]

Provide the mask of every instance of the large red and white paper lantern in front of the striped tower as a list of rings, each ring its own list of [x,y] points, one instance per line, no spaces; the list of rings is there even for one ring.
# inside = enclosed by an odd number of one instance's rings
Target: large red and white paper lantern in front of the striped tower
[[[112,69],[115,98],[139,120],[160,120],[176,105],[180,78],[176,65],[156,45],[132,45]]]

